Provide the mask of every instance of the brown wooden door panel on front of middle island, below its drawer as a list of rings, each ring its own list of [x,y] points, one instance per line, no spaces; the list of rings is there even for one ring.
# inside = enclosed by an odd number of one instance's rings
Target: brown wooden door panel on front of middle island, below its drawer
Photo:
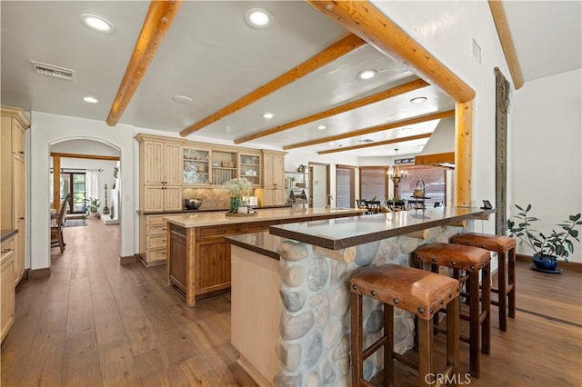
[[[196,243],[196,294],[230,287],[230,244],[225,238]]]

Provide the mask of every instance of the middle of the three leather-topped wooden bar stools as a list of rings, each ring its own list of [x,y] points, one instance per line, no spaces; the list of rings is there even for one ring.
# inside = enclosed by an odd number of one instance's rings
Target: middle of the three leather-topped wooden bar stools
[[[438,272],[438,266],[454,269],[455,278],[465,283],[468,295],[469,314],[460,315],[469,321],[469,336],[461,335],[460,340],[469,344],[469,372],[478,378],[481,374],[480,352],[489,353],[490,347],[490,288],[491,274],[490,254],[478,247],[451,243],[428,243],[418,247],[412,253],[413,262],[417,268],[423,263],[429,263],[433,272]],[[479,272],[482,278],[482,291],[479,297]],[[465,273],[464,275],[461,275]],[[468,286],[467,286],[468,283]],[[479,335],[479,330],[481,334]]]

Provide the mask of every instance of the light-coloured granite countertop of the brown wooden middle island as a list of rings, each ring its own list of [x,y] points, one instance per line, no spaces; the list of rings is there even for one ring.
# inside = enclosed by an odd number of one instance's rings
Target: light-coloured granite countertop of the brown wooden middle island
[[[288,218],[311,218],[314,216],[326,216],[334,213],[353,213],[354,216],[363,213],[365,210],[357,208],[271,208],[256,211],[256,215],[247,216],[227,216],[226,212],[221,213],[180,213],[165,217],[169,223],[174,223],[182,227],[201,227],[219,224],[249,223],[274,221]]]

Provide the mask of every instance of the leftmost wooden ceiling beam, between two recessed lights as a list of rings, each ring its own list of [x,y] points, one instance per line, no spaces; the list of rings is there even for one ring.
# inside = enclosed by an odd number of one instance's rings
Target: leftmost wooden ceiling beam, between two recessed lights
[[[156,56],[159,45],[172,25],[183,0],[152,1],[147,9],[142,30],[135,42],[134,52],[125,68],[125,74],[111,105],[106,123],[115,126],[125,112],[147,67]]]

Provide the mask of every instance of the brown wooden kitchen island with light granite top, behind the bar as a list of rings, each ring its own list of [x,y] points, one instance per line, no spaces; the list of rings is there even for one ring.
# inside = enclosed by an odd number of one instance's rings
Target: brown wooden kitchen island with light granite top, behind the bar
[[[226,212],[181,213],[164,219],[167,227],[168,284],[186,298],[188,306],[196,299],[230,289],[230,245],[225,237],[256,233],[284,223],[308,222],[356,216],[350,208],[272,208],[255,214],[227,216]]]

